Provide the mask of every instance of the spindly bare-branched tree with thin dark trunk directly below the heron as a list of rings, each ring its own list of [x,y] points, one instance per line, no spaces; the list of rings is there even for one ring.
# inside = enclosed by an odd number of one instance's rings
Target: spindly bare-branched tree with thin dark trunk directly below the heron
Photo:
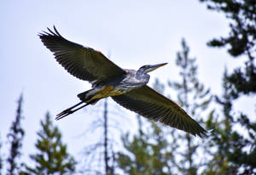
[[[98,111],[96,110],[97,114]],[[84,174],[115,174],[117,141],[113,138],[113,132],[119,131],[120,128],[119,122],[111,117],[114,112],[109,115],[111,112],[113,110],[109,110],[109,101],[105,99],[102,115],[96,116],[96,120],[92,121],[90,128],[86,130],[86,133],[95,133],[98,130],[100,137],[96,143],[87,145],[84,149],[84,164],[80,170]]]

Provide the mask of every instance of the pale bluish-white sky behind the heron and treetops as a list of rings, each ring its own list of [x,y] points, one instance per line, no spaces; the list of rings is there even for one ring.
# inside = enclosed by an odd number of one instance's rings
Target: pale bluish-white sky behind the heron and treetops
[[[230,70],[243,61],[230,59],[225,49],[207,47],[212,37],[227,35],[228,23],[223,14],[208,11],[197,0],[1,1],[0,21],[0,134],[4,144],[15,119],[16,101],[23,93],[26,158],[35,151],[39,120],[46,111],[55,117],[79,101],[78,93],[90,88],[89,83],[76,79],[58,65],[39,40],[38,32],[46,31],[47,27],[55,25],[68,40],[100,50],[107,56],[110,53],[111,60],[123,68],[138,69],[142,65],[168,62],[150,74],[149,85],[155,77],[161,82],[177,80],[175,59],[182,37],[189,45],[190,56],[197,58],[201,82],[212,93],[221,93],[224,65]],[[236,108],[253,113],[254,101],[243,98]],[[94,133],[80,137],[93,120],[88,111],[101,107],[96,105],[54,121],[61,129],[63,142],[75,156],[96,138]],[[122,115],[132,116],[128,110],[121,111]],[[125,131],[136,130],[134,118],[122,123]]]

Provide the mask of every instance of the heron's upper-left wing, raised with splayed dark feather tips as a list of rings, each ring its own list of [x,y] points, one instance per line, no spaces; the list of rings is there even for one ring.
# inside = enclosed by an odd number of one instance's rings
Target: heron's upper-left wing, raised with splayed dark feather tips
[[[46,48],[54,53],[55,59],[73,76],[90,82],[101,82],[112,76],[125,74],[101,52],[69,42],[55,29],[39,33]]]

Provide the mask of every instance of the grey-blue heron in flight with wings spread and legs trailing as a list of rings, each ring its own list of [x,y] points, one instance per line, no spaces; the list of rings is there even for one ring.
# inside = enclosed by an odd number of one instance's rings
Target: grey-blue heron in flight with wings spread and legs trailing
[[[78,94],[79,103],[63,110],[56,120],[111,97],[117,104],[150,120],[160,121],[195,136],[207,134],[177,103],[148,87],[148,73],[167,63],[143,65],[137,71],[122,69],[100,51],[70,42],[61,36],[55,26],[53,28],[38,34],[44,46],[49,48],[67,72],[91,84],[90,90]]]

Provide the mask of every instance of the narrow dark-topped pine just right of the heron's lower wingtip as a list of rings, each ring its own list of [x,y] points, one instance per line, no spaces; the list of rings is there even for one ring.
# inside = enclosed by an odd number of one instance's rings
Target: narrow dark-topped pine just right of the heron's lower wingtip
[[[224,76],[227,76],[225,71]],[[215,97],[218,104],[223,106],[223,116],[218,116],[214,112],[207,119],[207,128],[214,128],[212,139],[209,140],[208,147],[215,149],[212,151],[208,149],[212,160],[208,161],[205,173],[207,174],[236,174],[238,167],[233,167],[227,159],[227,153],[230,149],[230,137],[232,135],[231,129],[234,124],[232,110],[232,97],[230,96],[230,83],[224,81],[223,97]],[[217,147],[217,149],[216,149]],[[211,152],[212,151],[212,152]]]

